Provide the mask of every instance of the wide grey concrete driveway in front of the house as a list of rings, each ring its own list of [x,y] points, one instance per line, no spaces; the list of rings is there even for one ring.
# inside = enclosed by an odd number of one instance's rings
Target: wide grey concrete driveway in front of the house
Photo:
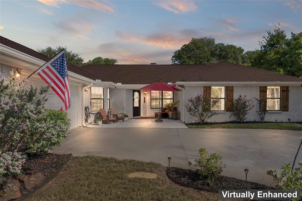
[[[120,159],[154,161],[168,166],[189,168],[198,149],[221,153],[226,168],[223,175],[271,184],[266,170],[282,164],[293,164],[300,142],[301,131],[265,129],[158,129],[158,128],[85,128],[71,130],[69,140],[54,153],[73,155],[100,155]],[[302,148],[297,160],[302,160]]]

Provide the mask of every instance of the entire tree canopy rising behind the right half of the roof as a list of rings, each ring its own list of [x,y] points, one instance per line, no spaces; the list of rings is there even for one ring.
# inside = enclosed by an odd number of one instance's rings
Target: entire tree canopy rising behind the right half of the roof
[[[276,25],[259,41],[260,49],[246,51],[232,44],[215,43],[214,38],[192,38],[176,50],[173,64],[213,64],[226,61],[302,78],[302,32],[291,33]]]

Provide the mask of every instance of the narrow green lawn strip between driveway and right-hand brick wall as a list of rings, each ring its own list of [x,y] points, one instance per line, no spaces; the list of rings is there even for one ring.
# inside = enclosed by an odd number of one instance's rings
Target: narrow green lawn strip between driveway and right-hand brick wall
[[[239,128],[239,129],[280,129],[280,130],[301,130],[302,125],[297,123],[229,123],[213,125],[188,125],[189,128]]]

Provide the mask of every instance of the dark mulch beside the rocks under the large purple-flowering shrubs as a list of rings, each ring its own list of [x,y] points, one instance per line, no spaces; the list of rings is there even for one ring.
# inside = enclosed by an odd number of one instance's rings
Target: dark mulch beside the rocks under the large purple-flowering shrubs
[[[69,156],[70,154],[60,155],[52,153],[40,156],[29,156],[22,165],[22,170],[23,172],[37,170],[44,175],[45,178],[43,181],[45,181],[62,166]],[[22,196],[28,193],[24,185],[20,186],[20,191]]]

